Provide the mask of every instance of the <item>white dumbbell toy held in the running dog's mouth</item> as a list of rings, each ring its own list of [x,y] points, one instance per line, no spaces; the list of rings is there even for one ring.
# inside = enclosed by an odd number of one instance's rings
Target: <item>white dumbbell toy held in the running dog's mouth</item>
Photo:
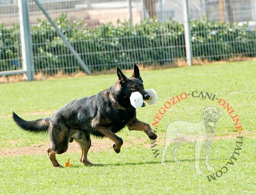
[[[146,90],[147,93],[150,94],[150,99],[145,100],[148,104],[155,104],[157,102],[157,93],[155,90],[150,89],[150,90]],[[141,107],[144,100],[143,100],[143,96],[139,93],[139,92],[133,92],[132,95],[130,96],[130,101],[132,106],[135,107],[135,109],[137,107]]]

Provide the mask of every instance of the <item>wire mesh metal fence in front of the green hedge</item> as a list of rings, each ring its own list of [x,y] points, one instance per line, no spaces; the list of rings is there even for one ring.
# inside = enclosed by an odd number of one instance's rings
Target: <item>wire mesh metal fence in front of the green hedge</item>
[[[17,2],[0,0],[0,75],[27,70],[23,67]],[[162,66],[187,58],[184,2],[40,1],[92,72],[117,66],[129,69],[134,63]],[[256,56],[256,0],[187,2],[193,58],[215,61]],[[36,3],[29,0],[28,4],[34,73],[83,70]]]

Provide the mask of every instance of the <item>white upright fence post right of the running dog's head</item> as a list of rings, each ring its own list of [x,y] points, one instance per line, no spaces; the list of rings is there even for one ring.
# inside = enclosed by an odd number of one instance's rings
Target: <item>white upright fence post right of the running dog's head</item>
[[[189,66],[192,65],[192,46],[191,46],[191,33],[190,33],[190,20],[188,16],[188,4],[187,0],[183,0],[184,6],[184,33],[185,33],[185,48],[186,48],[186,59]]]

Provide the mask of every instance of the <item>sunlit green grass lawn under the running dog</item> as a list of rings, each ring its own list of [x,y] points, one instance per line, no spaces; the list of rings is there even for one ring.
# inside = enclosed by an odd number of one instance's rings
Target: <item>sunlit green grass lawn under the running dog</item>
[[[159,98],[157,104],[137,109],[137,118],[149,124],[154,122],[166,101],[183,92],[212,93],[233,107],[243,126],[243,144],[240,144],[237,160],[233,159],[234,165],[226,164],[234,152],[239,134],[234,132],[234,122],[227,111],[218,100],[189,96],[167,109],[159,127],[155,128],[158,139],[153,149],[158,149],[160,154],[156,158],[147,136],[142,132],[129,132],[127,128],[117,133],[124,141],[120,154],[111,148],[112,143],[102,150],[89,150],[89,160],[102,164],[98,167],[83,166],[79,162],[79,150],[57,155],[60,164],[65,165],[70,158],[74,165],[62,169],[52,167],[47,153],[3,155],[0,157],[0,194],[255,194],[255,73],[256,61],[141,71],[145,89],[153,88]],[[127,76],[131,74],[125,73]],[[20,130],[12,121],[12,111],[26,120],[51,116],[66,103],[94,95],[116,81],[116,75],[99,75],[0,84],[0,154],[5,149],[49,144],[47,135]],[[217,127],[218,139],[210,155],[210,164],[215,171],[207,171],[202,151],[200,166],[205,175],[196,174],[194,147],[188,143],[178,151],[180,164],[172,161],[169,150],[166,166],[161,166],[167,125],[174,120],[199,122],[201,110],[208,105],[223,111]],[[93,138],[94,143],[99,141]],[[223,166],[227,166],[228,171],[209,182],[207,176],[216,174]]]

